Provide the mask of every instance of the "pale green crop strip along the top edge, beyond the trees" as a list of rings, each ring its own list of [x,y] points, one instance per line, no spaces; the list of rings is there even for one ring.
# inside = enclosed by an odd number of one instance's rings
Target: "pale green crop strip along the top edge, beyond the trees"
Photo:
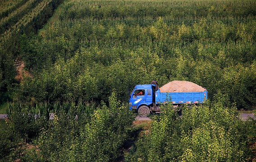
[[[239,18],[255,16],[256,10],[253,0],[238,1],[76,1],[66,5],[61,19],[129,19],[129,18],[158,18],[168,17],[174,19],[207,18]]]

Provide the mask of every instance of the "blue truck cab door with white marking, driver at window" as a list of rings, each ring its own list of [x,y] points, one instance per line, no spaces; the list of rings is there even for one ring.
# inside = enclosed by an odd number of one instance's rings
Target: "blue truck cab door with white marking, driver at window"
[[[137,108],[142,103],[146,103],[145,90],[135,90],[132,94],[132,106],[136,106]]]

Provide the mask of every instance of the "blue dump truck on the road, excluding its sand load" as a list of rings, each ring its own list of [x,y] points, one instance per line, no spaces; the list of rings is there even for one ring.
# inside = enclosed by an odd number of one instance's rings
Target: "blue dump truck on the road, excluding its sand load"
[[[150,112],[161,112],[160,105],[171,103],[174,108],[182,104],[204,103],[207,99],[207,90],[203,92],[165,92],[155,88],[155,84],[136,85],[130,94],[130,109],[135,109],[141,117]]]

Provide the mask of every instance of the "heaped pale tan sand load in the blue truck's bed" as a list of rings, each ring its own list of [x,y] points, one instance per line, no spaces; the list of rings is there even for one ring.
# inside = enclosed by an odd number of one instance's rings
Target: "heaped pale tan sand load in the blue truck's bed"
[[[170,81],[160,88],[160,92],[203,92],[206,89],[190,81]]]

